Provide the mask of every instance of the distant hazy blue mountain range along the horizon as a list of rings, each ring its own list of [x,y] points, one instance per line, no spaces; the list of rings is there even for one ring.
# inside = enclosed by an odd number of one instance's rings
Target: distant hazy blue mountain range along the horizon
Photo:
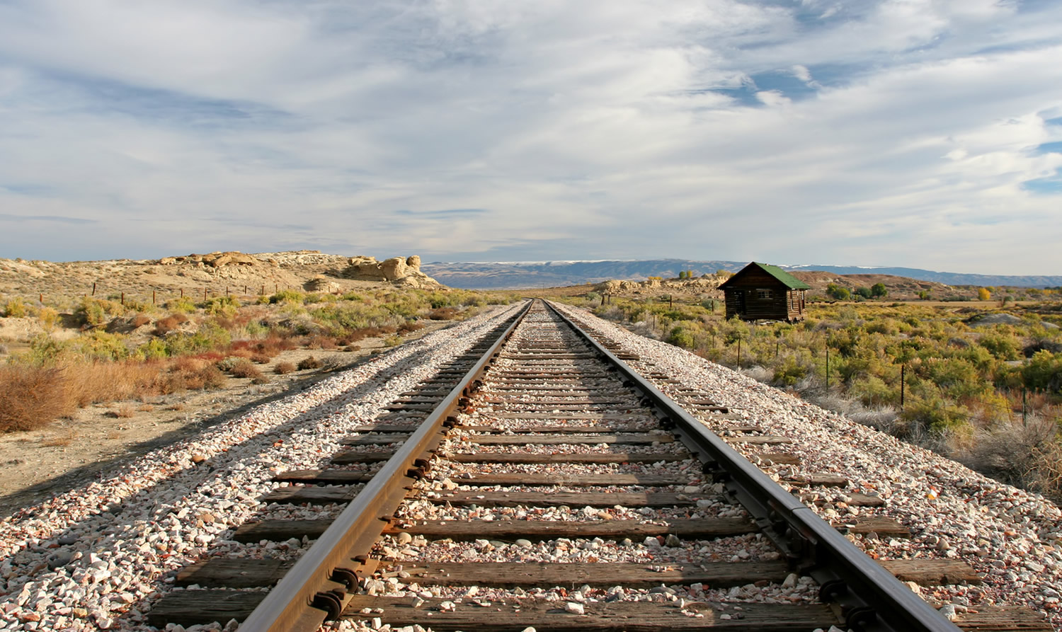
[[[690,261],[650,259],[644,261],[474,261],[423,263],[421,270],[439,283],[469,290],[549,288],[615,279],[644,280],[647,276],[679,276],[680,270],[712,274],[717,270],[737,272],[748,261]],[[1015,286],[1045,288],[1062,286],[1062,276],[1014,276],[933,272],[918,268],[873,268],[863,266],[782,266],[786,270],[821,270],[833,274],[892,274],[949,286]]]

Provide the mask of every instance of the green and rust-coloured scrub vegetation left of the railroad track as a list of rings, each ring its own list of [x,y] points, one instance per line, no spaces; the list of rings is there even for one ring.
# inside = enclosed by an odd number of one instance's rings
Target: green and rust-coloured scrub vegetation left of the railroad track
[[[304,347],[355,351],[356,341],[382,337],[387,346],[421,329],[421,320],[464,319],[486,305],[515,298],[465,290],[380,288],[342,296],[281,290],[243,304],[236,296],[187,296],[161,307],[115,295],[83,296],[67,319],[79,336],[51,332],[64,320],[53,307],[23,298],[3,305],[6,318],[35,317],[44,334],[0,364],[0,432],[28,430],[67,416],[79,406],[219,388],[224,372],[263,383],[255,364],[281,351]],[[35,302],[34,302],[35,303]],[[148,327],[148,325],[154,325]],[[319,360],[299,369],[320,368]],[[276,365],[276,374],[295,368]]]

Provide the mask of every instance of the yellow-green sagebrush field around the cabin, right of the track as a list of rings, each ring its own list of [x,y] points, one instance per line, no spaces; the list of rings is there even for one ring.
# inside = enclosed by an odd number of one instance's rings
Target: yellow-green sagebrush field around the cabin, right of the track
[[[863,292],[866,290],[866,292]],[[837,300],[851,297],[832,285]],[[884,286],[857,298],[884,297]],[[1049,297],[1050,294],[1044,294]],[[972,307],[811,304],[798,324],[726,321],[714,300],[613,297],[587,307],[827,408],[932,447],[1008,482],[1050,482],[1062,428],[1062,303],[1010,306],[1020,324],[972,326]],[[827,364],[828,348],[828,364]],[[1056,447],[1052,447],[1056,446]],[[1000,463],[1009,463],[1000,466]],[[1054,485],[1054,486],[1052,486]]]

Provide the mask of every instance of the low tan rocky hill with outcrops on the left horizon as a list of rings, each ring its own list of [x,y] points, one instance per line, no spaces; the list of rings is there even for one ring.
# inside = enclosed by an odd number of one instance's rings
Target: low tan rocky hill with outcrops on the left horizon
[[[160,259],[28,261],[0,259],[0,293],[6,296],[107,296],[139,300],[204,291],[212,294],[273,293],[280,289],[341,292],[363,284],[441,287],[421,271],[421,257],[344,257],[318,251],[245,254],[216,252]]]

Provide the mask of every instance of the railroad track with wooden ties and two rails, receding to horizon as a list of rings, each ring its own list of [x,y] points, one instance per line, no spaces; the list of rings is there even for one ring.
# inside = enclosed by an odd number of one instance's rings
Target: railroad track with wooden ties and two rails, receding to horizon
[[[545,304],[495,334],[359,428],[328,467],[278,474],[266,500],[305,515],[245,523],[233,537],[252,552],[184,569],[186,590],[156,603],[151,622],[1051,629],[1010,609],[948,621],[901,580],[976,582],[973,569],[871,560],[839,529],[903,536],[874,517],[881,498],[849,493],[861,519],[824,522],[798,496],[815,502],[816,490],[851,481],[805,476],[787,481],[805,493],[789,493],[730,445],[786,462],[787,438],[705,393],[669,389],[678,407],[624,363],[637,357]],[[315,543],[295,561],[280,546],[292,540]]]

